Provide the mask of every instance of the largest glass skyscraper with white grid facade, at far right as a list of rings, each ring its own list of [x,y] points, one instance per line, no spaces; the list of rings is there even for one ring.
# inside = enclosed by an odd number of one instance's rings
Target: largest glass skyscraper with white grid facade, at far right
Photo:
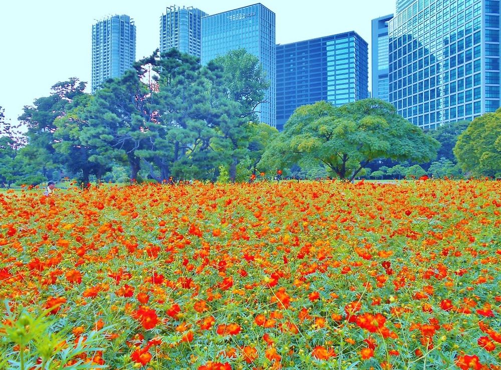
[[[499,107],[499,0],[414,0],[388,25],[389,97],[422,128]]]

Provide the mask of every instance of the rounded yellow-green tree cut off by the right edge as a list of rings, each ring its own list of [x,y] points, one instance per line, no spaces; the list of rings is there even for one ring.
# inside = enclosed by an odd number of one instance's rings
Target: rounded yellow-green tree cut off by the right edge
[[[501,174],[501,108],[475,118],[459,135],[454,155],[465,172],[476,176]]]

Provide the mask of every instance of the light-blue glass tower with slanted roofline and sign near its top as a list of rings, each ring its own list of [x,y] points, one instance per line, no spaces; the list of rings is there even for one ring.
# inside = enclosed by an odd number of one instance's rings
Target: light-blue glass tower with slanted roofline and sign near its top
[[[270,87],[265,94],[266,102],[257,111],[262,122],[275,127],[275,13],[255,4],[202,18],[202,64],[240,48],[258,57],[263,65]]]

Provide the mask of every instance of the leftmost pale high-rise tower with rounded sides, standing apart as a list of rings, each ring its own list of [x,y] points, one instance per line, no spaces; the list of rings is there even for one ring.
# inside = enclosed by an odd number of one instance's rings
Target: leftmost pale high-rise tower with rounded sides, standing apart
[[[136,26],[127,15],[92,26],[92,93],[105,80],[120,77],[136,60]]]

